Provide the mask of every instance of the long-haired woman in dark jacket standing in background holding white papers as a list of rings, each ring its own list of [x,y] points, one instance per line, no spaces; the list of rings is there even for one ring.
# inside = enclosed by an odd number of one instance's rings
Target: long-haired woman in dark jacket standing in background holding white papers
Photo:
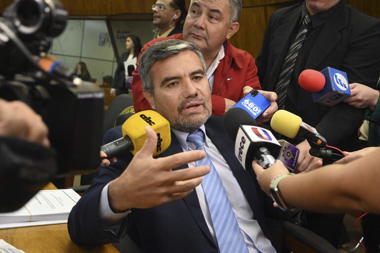
[[[128,94],[128,88],[126,86],[128,65],[133,65],[134,69],[136,69],[137,57],[139,56],[141,47],[140,38],[138,36],[132,34],[127,36],[125,41],[127,52],[120,56],[120,61],[117,64],[114,80],[112,82],[112,89],[110,91],[112,96]]]

